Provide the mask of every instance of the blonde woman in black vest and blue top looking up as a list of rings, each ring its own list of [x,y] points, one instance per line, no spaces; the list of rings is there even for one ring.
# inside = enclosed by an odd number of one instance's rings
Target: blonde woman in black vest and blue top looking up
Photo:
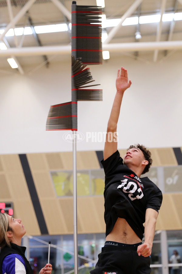
[[[21,246],[26,229],[21,219],[14,219],[6,213],[0,213],[0,274],[33,274],[29,261],[25,257],[25,247]],[[52,265],[46,264],[39,274],[51,274]]]

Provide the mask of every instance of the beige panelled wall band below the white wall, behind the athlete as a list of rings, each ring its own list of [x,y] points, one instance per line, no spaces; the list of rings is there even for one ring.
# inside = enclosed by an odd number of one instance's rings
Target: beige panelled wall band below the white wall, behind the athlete
[[[120,155],[126,150],[120,150]],[[153,165],[173,166],[177,160],[172,148],[151,149]],[[72,170],[72,153],[27,155],[33,181],[49,234],[73,233],[72,197],[58,198],[50,170]],[[100,169],[95,151],[77,152],[77,170]],[[15,218],[22,218],[27,233],[40,235],[36,214],[18,155],[0,156],[0,202],[13,202]],[[156,229],[182,229],[182,193],[163,195]],[[78,233],[105,233],[103,196],[78,197]],[[29,215],[27,217],[27,214]],[[29,219],[33,226],[29,224]]]

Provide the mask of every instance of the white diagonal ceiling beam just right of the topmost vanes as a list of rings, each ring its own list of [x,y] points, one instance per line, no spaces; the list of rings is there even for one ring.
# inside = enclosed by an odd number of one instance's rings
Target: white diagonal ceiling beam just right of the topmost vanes
[[[124,20],[133,14],[133,12],[138,8],[138,6],[141,4],[142,1],[143,0],[135,0],[135,2],[130,6],[130,8],[121,17],[120,23],[117,26],[113,27],[112,30],[109,32],[107,39],[104,41],[104,44],[108,44],[113,39],[115,34],[121,28]]]

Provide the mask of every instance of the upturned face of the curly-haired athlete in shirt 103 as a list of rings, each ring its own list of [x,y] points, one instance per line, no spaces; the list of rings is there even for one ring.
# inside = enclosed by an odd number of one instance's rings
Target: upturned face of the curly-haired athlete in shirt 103
[[[130,165],[139,167],[143,163],[143,161],[146,161],[143,152],[137,147],[129,149],[123,157],[123,162],[128,167]]]

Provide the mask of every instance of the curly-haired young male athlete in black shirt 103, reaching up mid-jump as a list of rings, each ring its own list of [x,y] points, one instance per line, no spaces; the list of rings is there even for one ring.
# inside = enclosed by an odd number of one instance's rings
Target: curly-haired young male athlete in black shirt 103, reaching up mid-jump
[[[113,102],[107,132],[117,131],[117,122],[124,91],[131,86],[127,70],[118,70],[116,96]],[[151,153],[144,146],[130,146],[123,159],[117,142],[106,142],[105,213],[106,242],[98,255],[91,274],[149,274],[150,254],[155,225],[162,202],[160,189],[148,177],[140,178],[152,163]],[[145,223],[143,227],[143,223]],[[143,233],[145,241],[142,243]]]

